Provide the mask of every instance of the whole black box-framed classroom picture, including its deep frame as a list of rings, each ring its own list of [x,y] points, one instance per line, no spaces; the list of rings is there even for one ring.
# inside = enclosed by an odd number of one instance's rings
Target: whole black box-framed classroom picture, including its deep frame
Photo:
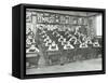
[[[106,10],[18,4],[12,9],[12,75],[104,74]]]

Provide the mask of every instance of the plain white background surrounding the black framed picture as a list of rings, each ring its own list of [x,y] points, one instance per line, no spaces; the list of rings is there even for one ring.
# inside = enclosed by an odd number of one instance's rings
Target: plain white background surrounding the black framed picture
[[[0,83],[108,83],[107,74],[18,80],[11,77],[12,67],[12,6],[18,3],[104,8],[108,0],[1,0],[0,1]],[[106,14],[108,17],[108,14]],[[108,26],[108,25],[107,25]],[[106,29],[108,31],[108,28]],[[108,42],[108,38],[107,38]],[[106,44],[108,46],[108,43]],[[106,52],[108,54],[108,51]],[[107,57],[108,64],[108,57]],[[107,66],[108,70],[108,66]]]

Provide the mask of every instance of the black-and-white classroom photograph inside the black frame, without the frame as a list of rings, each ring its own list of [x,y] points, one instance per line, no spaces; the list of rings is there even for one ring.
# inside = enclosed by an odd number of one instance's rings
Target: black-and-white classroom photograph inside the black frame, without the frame
[[[103,70],[103,14],[26,9],[26,74]]]

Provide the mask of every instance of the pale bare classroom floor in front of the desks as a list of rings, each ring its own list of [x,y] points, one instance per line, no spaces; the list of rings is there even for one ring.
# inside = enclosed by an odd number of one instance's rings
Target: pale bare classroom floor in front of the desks
[[[26,70],[26,74],[39,74],[39,73],[56,73],[56,72],[76,72],[76,71],[92,71],[102,70],[102,58],[79,60],[75,63],[65,64],[64,66],[48,66],[31,68]]]

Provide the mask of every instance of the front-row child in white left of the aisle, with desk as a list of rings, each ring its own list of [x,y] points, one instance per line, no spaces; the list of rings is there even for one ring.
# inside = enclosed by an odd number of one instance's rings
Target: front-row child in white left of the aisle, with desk
[[[40,50],[36,47],[35,44],[32,44],[29,49],[26,49],[27,68],[32,68],[32,67],[38,68],[40,56],[41,56]]]

